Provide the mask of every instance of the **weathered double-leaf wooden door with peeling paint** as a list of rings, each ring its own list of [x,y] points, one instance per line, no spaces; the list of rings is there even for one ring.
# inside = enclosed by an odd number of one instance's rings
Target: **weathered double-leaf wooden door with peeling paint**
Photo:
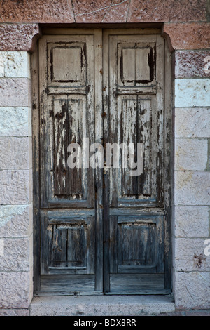
[[[37,291],[140,294],[169,286],[165,46],[154,31],[66,29],[39,42]],[[129,143],[137,169],[123,154]]]

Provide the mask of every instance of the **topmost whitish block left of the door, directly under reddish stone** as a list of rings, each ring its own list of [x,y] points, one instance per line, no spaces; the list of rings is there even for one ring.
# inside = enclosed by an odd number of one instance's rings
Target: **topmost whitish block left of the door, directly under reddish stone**
[[[31,78],[30,55],[27,51],[1,51],[0,67],[1,65],[3,65],[3,75],[0,69],[0,77]]]

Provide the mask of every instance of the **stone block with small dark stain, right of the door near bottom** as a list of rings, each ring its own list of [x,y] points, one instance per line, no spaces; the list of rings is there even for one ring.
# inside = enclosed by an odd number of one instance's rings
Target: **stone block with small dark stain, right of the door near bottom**
[[[175,239],[175,269],[176,271],[210,271],[210,257],[204,254],[202,238]]]

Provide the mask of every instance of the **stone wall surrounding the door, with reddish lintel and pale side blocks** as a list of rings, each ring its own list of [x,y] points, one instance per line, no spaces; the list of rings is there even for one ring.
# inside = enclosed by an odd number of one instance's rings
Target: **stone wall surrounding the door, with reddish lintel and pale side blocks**
[[[44,23],[162,25],[174,56],[175,303],[210,308],[209,13],[209,0],[1,0],[0,315],[28,315],[33,293],[29,52]]]

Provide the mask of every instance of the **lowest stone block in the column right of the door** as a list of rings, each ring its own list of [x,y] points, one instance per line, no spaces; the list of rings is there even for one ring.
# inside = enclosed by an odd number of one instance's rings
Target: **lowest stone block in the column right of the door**
[[[175,272],[176,308],[210,308],[209,272]]]

